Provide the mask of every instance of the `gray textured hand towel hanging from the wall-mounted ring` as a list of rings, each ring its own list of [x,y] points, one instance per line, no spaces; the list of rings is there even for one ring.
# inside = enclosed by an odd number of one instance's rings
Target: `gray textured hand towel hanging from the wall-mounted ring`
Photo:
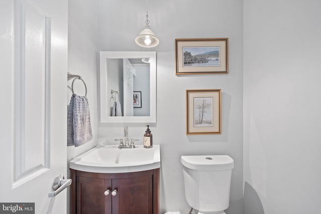
[[[80,146],[92,139],[89,105],[86,96],[71,96],[68,108],[68,146]]]

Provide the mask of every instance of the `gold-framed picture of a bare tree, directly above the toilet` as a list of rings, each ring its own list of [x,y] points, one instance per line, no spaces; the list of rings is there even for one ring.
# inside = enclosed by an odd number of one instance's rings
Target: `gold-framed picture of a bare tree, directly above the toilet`
[[[221,134],[221,89],[186,90],[186,134]]]

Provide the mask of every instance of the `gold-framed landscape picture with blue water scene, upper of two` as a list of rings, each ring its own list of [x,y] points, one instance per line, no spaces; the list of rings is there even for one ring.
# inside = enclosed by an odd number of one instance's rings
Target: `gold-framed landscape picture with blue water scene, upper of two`
[[[176,75],[227,74],[228,38],[175,39]]]

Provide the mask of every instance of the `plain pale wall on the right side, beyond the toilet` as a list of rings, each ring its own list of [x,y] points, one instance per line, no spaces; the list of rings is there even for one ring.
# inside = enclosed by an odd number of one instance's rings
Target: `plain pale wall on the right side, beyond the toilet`
[[[244,0],[244,213],[321,213],[321,2]]]

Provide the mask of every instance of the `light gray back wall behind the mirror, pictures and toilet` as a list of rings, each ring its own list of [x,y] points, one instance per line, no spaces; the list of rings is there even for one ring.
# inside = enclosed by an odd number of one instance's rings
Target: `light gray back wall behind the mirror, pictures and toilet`
[[[243,2],[239,0],[148,1],[150,27],[157,47],[137,46],[144,27],[144,0],[98,1],[99,51],[157,52],[157,123],[153,142],[161,144],[161,213],[188,213],[181,155],[228,154],[235,160],[228,214],[242,214],[243,178]],[[175,75],[176,38],[229,38],[229,74]],[[222,89],[222,134],[186,135],[186,89]],[[98,123],[98,137],[108,143],[123,136],[125,124]],[[142,140],[146,124],[129,125],[129,137]],[[142,142],[140,142],[142,143]]]

